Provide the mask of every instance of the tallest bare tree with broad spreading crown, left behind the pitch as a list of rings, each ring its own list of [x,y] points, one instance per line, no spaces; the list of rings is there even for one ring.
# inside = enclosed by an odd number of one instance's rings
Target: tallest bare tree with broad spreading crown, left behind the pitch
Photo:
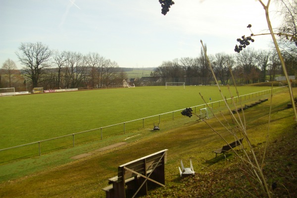
[[[31,78],[33,87],[38,87],[45,68],[48,68],[52,51],[48,46],[38,43],[22,43],[20,53],[16,52],[21,64],[24,65],[24,75]]]

